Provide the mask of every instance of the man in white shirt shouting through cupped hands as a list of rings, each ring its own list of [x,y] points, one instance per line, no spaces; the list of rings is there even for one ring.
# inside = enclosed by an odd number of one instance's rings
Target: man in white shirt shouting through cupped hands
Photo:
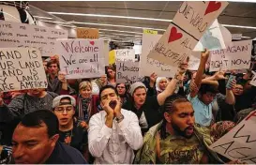
[[[135,113],[121,109],[120,98],[112,85],[99,91],[103,111],[89,122],[89,151],[96,164],[131,164],[133,150],[143,145],[139,120]]]

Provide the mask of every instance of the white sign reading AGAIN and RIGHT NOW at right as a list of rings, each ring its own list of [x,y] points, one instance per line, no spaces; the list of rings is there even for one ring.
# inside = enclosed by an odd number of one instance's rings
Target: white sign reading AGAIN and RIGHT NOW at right
[[[251,40],[234,41],[225,50],[211,51],[210,71],[250,67]]]

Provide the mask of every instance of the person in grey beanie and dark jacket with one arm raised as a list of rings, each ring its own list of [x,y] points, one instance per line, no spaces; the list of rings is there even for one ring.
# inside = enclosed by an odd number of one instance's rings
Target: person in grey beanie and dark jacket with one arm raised
[[[154,97],[147,96],[146,87],[143,82],[134,82],[131,84],[129,90],[131,100],[124,104],[123,108],[137,114],[143,132],[158,124],[161,120],[161,113],[158,112],[158,109],[163,104],[165,98],[173,95],[176,84],[181,80],[183,73],[182,71],[178,71],[165,90]],[[154,84],[156,79],[156,76],[152,74],[150,83]]]

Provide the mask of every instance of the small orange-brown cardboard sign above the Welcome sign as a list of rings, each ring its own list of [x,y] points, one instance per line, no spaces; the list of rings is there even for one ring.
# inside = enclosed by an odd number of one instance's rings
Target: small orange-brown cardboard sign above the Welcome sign
[[[94,28],[77,28],[78,38],[98,39],[98,29]]]

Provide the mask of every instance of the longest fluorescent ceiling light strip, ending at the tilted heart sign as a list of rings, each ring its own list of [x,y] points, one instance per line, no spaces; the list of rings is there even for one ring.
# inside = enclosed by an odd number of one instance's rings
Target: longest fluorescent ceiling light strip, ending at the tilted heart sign
[[[144,20],[144,21],[156,21],[156,22],[169,22],[172,20],[155,19],[155,18],[144,18],[144,17],[128,17],[128,16],[117,16],[117,15],[104,15],[104,14],[85,14],[85,13],[69,13],[69,12],[48,12],[55,15],[72,15],[72,16],[85,16],[85,17],[104,17],[104,18],[116,18],[116,19],[131,19],[131,20]]]

